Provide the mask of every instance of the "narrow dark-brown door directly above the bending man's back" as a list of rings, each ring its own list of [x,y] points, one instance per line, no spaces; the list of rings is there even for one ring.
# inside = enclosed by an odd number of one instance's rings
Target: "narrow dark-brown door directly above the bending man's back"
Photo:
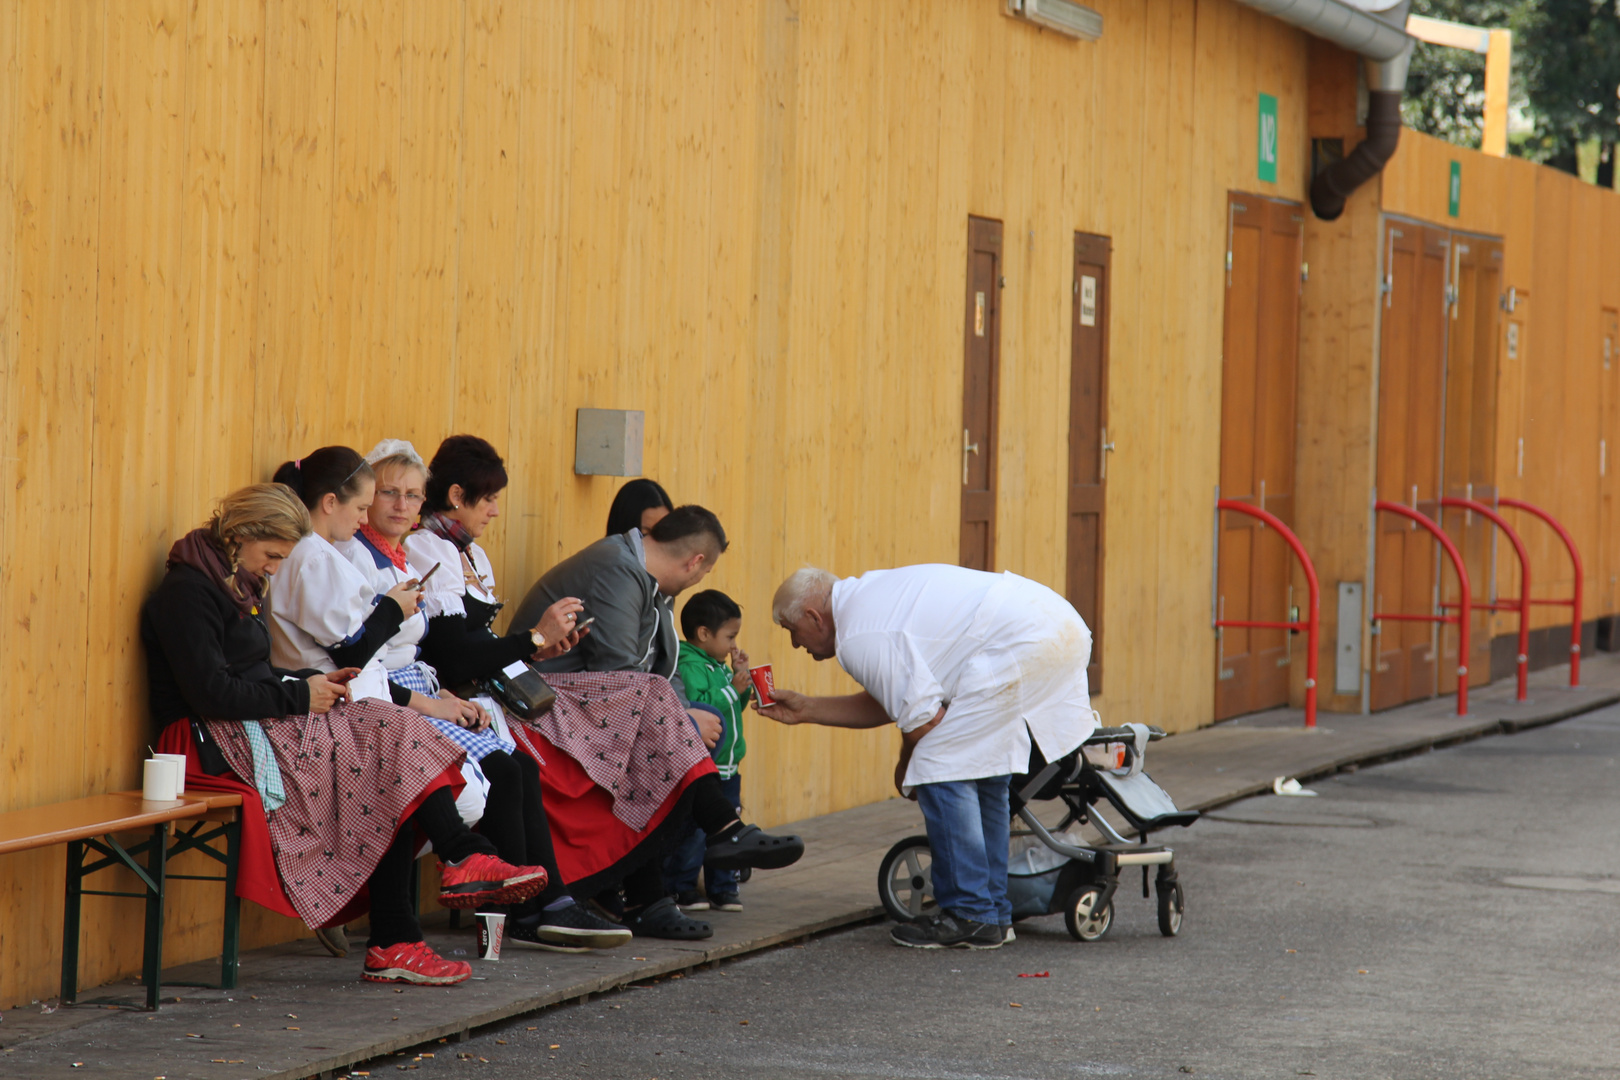
[[[1001,371],[1001,222],[967,219],[962,329],[962,565],[996,557],[996,387]]]

